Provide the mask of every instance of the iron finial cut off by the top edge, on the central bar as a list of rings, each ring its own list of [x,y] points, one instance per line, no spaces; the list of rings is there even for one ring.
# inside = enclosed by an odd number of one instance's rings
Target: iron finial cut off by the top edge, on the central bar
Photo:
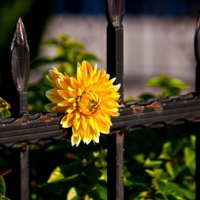
[[[106,16],[113,26],[121,26],[125,12],[125,0],[106,0]]]

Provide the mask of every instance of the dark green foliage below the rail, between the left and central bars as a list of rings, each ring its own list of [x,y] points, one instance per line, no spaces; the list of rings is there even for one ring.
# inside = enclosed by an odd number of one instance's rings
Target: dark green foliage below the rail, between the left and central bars
[[[106,200],[106,149],[101,145],[58,142],[31,155],[32,199]],[[38,165],[38,163],[42,163]]]

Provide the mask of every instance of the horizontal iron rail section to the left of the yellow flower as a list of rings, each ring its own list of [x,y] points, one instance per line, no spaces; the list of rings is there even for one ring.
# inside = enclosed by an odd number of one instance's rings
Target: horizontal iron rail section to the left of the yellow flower
[[[0,146],[23,147],[26,143],[45,144],[65,137],[61,115],[40,113],[22,118],[0,120]]]

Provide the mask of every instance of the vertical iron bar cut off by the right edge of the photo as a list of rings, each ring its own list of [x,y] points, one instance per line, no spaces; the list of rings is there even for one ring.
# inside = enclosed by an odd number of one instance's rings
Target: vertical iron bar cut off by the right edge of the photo
[[[197,18],[197,25],[194,37],[194,52],[196,58],[196,93],[200,95],[200,13],[198,14]],[[200,199],[200,127],[197,127],[197,134],[196,134],[196,200]]]

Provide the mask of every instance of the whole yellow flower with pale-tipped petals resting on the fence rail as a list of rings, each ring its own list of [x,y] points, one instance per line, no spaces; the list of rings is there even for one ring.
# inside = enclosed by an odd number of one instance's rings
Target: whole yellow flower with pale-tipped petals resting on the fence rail
[[[65,113],[61,125],[72,127],[72,146],[78,146],[81,140],[98,143],[100,133],[109,133],[110,118],[119,115],[120,85],[113,85],[115,78],[109,80],[104,69],[83,61],[78,64],[76,77],[53,68],[49,80],[53,89],[46,92],[52,102],[47,109]]]

